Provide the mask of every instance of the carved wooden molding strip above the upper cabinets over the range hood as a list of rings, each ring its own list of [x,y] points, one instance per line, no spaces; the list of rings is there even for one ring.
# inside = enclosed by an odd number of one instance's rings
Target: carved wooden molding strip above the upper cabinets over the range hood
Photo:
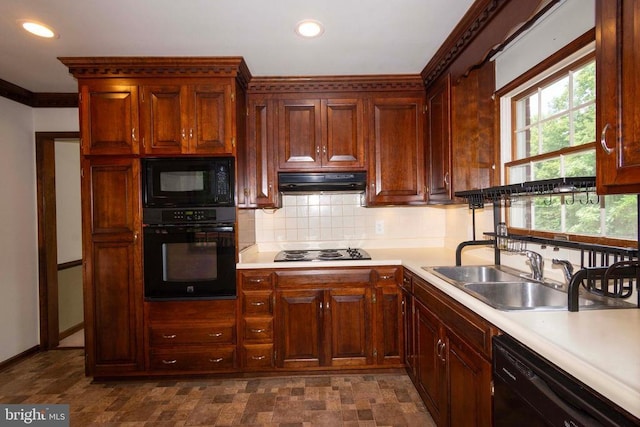
[[[424,90],[420,75],[256,77],[250,93],[362,92]]]

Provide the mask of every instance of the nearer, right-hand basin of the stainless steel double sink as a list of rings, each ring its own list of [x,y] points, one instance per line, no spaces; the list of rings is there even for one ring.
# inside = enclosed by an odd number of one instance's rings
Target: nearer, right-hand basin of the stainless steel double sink
[[[499,310],[566,309],[567,293],[537,282],[468,283],[463,290]],[[596,302],[579,299],[581,307]]]

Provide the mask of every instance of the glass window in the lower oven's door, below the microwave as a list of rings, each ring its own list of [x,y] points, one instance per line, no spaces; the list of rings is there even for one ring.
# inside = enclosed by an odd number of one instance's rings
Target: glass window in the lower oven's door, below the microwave
[[[163,281],[200,282],[218,278],[216,242],[164,243]]]

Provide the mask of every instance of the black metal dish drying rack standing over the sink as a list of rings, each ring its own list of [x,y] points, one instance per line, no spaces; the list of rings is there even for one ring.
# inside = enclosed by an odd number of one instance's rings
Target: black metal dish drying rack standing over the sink
[[[623,248],[616,246],[580,243],[562,239],[548,239],[528,235],[499,236],[506,239],[506,249],[498,247],[497,225],[500,222],[500,208],[503,202],[514,197],[533,197],[543,195],[575,195],[586,193],[587,203],[596,203],[598,196],[595,192],[595,177],[557,178],[541,181],[529,181],[521,184],[503,185],[480,190],[456,192],[455,196],[464,198],[472,210],[473,240],[462,242],[456,250],[456,265],[461,265],[462,249],[467,246],[493,246],[495,264],[500,264],[500,252],[522,252],[527,242],[547,245],[554,248],[568,248],[580,251],[580,270],[571,276],[568,288],[568,309],[578,311],[578,295],[580,287],[588,292],[608,298],[626,299],[632,296],[634,287],[638,289],[640,283],[640,261],[638,248]],[[592,201],[591,197],[596,198]],[[488,240],[476,239],[475,210],[484,208],[485,202],[493,204],[494,231],[483,233],[490,237]],[[584,202],[582,202],[584,203]],[[638,218],[640,220],[640,200],[638,203]],[[639,227],[640,230],[640,227]],[[638,307],[640,307],[640,291],[638,293]]]

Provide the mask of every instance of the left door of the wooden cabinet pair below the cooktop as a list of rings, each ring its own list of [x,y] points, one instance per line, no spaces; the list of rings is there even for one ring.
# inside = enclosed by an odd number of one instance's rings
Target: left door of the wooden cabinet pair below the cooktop
[[[276,363],[280,368],[325,364],[324,293],[318,290],[276,291]]]

